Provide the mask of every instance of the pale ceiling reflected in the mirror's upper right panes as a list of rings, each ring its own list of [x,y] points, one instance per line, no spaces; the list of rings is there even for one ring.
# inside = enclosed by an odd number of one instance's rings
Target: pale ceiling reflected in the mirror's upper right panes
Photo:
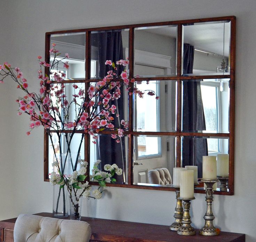
[[[223,55],[224,23],[207,23],[184,26],[184,43],[193,45],[196,49]],[[157,27],[145,29],[147,32],[176,38],[177,27]],[[230,23],[225,23],[224,55],[229,56]]]

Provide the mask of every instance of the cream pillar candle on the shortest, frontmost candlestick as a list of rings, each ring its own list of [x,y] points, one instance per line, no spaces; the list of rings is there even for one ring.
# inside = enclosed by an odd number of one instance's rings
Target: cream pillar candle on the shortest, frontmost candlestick
[[[179,188],[181,198],[194,197],[194,171],[181,170],[181,187]]]

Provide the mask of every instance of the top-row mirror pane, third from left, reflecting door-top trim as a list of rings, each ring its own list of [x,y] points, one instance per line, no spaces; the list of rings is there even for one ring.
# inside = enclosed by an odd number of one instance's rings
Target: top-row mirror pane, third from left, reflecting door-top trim
[[[135,28],[134,76],[175,76],[176,40],[177,26]]]

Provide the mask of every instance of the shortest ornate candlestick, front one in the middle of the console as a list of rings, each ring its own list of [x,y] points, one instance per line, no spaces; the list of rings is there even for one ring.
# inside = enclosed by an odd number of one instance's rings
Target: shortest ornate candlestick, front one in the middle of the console
[[[182,198],[179,197],[179,200],[183,200],[183,209],[184,214],[182,217],[182,226],[178,228],[177,234],[179,235],[195,235],[195,229],[190,225],[192,222],[190,220],[190,201],[194,200],[195,197],[192,198]]]

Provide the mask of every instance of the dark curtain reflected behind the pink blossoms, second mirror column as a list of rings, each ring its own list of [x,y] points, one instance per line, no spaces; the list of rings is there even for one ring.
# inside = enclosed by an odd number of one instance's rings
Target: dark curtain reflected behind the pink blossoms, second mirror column
[[[116,63],[123,59],[123,46],[121,30],[104,31],[97,34],[98,37],[98,60],[99,60],[99,78],[104,78],[109,71],[109,65],[105,65],[106,60],[111,60]],[[111,67],[112,68],[112,67]],[[122,70],[120,70],[122,71]],[[121,74],[121,73],[119,73]],[[124,119],[123,110],[123,90],[118,100],[111,101],[112,104],[117,106],[119,117],[114,116],[113,124],[115,127],[120,126],[120,121]],[[101,160],[101,169],[104,169],[105,164],[117,164],[119,168],[126,170],[126,157],[125,157],[125,140],[122,137],[121,142],[117,143],[110,135],[101,135],[98,140],[99,144],[99,159]],[[124,181],[123,176],[115,177],[117,183]]]

